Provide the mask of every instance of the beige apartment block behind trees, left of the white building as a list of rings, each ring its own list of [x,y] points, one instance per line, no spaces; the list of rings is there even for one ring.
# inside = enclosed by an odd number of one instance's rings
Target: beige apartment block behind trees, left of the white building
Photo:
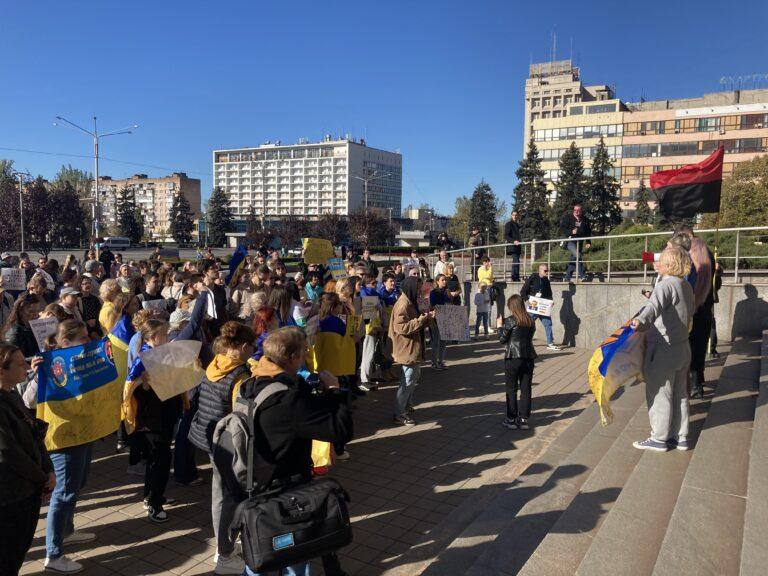
[[[135,174],[130,178],[113,180],[111,176],[99,177],[99,194],[102,221],[108,227],[117,226],[117,198],[123,188],[132,190],[136,204],[144,218],[144,231],[150,238],[170,237],[169,213],[173,197],[183,194],[192,208],[193,218],[200,216],[200,180],[188,178],[184,172],[174,172],[161,178]]]

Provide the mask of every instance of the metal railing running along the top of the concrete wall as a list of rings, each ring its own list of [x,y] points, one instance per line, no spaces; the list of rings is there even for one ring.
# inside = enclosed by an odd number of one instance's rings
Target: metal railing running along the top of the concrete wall
[[[714,228],[697,229],[695,233],[697,236],[702,237],[709,246],[710,250],[714,250],[713,241],[710,239],[710,235],[714,235],[719,232],[719,249],[717,259],[722,262],[725,274],[733,278],[735,283],[739,282],[740,274],[743,275],[742,263],[752,261],[768,260],[768,226],[752,226],[742,228],[721,228],[717,231]],[[615,236],[589,236],[584,238],[572,239],[572,238],[555,238],[548,240],[529,240],[520,242],[517,246],[520,248],[519,255],[519,276],[525,278],[531,273],[535,266],[539,264],[547,264],[550,270],[550,276],[557,279],[553,274],[552,266],[557,268],[564,267],[567,274],[570,268],[573,268],[575,272],[576,281],[581,281],[579,278],[580,265],[589,264],[591,270],[588,271],[589,277],[597,276],[601,281],[611,281],[611,277],[616,277],[617,274],[621,274],[624,279],[640,278],[642,273],[642,282],[648,281],[648,264],[643,263],[642,252],[649,252],[652,250],[661,251],[665,242],[662,241],[665,237],[671,237],[672,231],[666,232],[647,232],[638,234],[617,234]],[[735,237],[734,237],[735,236]],[[754,236],[756,240],[752,240],[749,246],[757,246],[756,249],[751,249],[745,252],[745,237],[751,239]],[[765,243],[760,238],[765,237]],[[724,242],[727,240],[727,242]],[[574,246],[572,256],[568,259],[559,259],[559,255],[567,254],[559,248],[565,248],[568,250],[567,245],[571,243]],[[634,245],[634,247],[626,248],[626,246]],[[733,244],[733,246],[731,246]],[[586,245],[591,245],[587,250],[583,250]],[[477,268],[480,266],[481,255],[487,255],[491,258],[494,269],[494,277],[498,279],[510,279],[512,277],[513,258],[511,254],[508,254],[508,248],[512,244],[488,244],[485,246],[473,246],[458,248],[455,250],[447,250],[449,254],[449,260],[453,261],[456,265],[456,274],[464,280],[477,279]],[[623,250],[622,250],[623,248]],[[732,249],[731,249],[732,248]],[[554,249],[554,250],[553,250]],[[632,257],[615,257],[616,252],[630,251]],[[553,254],[554,252],[554,254]],[[570,252],[570,250],[568,250]],[[729,253],[730,252],[730,253]],[[761,253],[753,253],[761,252]],[[591,256],[585,258],[585,254],[598,254],[605,253],[605,257],[592,258]],[[635,257],[634,254],[637,254]],[[553,255],[555,259],[553,259]],[[626,255],[626,254],[625,254]],[[430,272],[435,268],[435,264],[439,259],[439,253],[435,252],[427,257],[427,263],[430,267]],[[499,264],[501,264],[499,266]],[[730,264],[730,265],[729,265]],[[564,266],[561,266],[564,265]]]

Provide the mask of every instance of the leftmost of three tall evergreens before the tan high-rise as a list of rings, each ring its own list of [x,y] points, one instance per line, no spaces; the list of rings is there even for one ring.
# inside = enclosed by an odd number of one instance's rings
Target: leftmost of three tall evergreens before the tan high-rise
[[[549,191],[544,184],[544,170],[536,143],[531,138],[525,158],[515,171],[519,182],[515,186],[515,205],[523,240],[549,238]]]

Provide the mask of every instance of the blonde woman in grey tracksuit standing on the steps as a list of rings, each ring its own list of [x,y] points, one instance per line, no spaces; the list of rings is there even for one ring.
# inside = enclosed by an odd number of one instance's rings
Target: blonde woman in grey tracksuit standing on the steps
[[[677,246],[661,254],[659,281],[648,304],[632,321],[647,331],[643,376],[651,436],[635,448],[666,452],[688,449],[688,332],[693,318],[693,289],[684,279],[691,269],[688,253]]]

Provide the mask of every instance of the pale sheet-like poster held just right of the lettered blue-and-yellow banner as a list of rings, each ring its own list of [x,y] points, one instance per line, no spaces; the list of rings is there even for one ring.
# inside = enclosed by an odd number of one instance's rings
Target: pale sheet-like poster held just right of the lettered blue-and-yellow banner
[[[161,401],[191,390],[203,380],[197,357],[201,342],[178,340],[142,352],[139,356],[149,375],[149,385]]]

